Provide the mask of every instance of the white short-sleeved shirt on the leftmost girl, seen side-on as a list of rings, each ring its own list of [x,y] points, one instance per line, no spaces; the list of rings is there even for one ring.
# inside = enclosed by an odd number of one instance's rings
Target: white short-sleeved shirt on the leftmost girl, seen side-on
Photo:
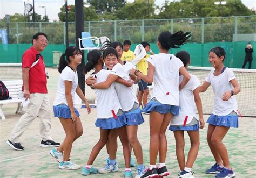
[[[75,104],[75,92],[78,86],[77,72],[75,73],[70,67],[66,66],[62,70],[62,73],[59,76],[58,87],[57,87],[56,97],[53,102],[53,106],[57,106],[62,103],[65,103],[66,105],[68,105],[68,103],[66,102],[66,95],[65,95],[65,81],[72,82],[71,95],[72,95],[73,104]]]

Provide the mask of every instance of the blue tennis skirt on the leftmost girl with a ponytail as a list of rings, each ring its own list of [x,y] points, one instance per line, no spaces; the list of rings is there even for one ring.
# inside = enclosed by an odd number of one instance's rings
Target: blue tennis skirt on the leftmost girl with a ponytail
[[[76,108],[74,108],[74,109],[75,109],[76,115],[80,116],[78,110]],[[59,104],[57,106],[53,106],[53,113],[54,113],[54,117],[61,117],[64,119],[72,118],[69,106],[66,104]]]

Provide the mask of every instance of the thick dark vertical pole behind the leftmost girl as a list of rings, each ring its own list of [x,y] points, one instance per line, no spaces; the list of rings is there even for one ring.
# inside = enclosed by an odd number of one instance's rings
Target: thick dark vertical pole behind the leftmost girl
[[[82,38],[81,34],[84,32],[84,2],[75,0],[75,15],[76,15],[76,46],[79,47],[78,38]],[[84,53],[82,53],[82,63],[77,66],[78,84],[80,89],[85,93],[85,76],[83,68],[85,64]]]

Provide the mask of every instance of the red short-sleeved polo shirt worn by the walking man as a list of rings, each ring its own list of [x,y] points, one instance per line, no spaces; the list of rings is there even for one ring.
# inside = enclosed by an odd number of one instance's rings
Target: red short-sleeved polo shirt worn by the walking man
[[[39,59],[36,61],[37,55],[39,55]],[[47,80],[43,56],[41,56],[33,46],[26,50],[22,56],[22,68],[26,67],[30,68],[29,92],[46,94]]]

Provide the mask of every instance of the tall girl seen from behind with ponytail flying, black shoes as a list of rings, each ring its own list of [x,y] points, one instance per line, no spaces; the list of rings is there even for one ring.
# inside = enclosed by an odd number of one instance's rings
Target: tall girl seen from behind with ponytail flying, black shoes
[[[162,32],[158,36],[157,46],[160,53],[147,58],[149,69],[147,75],[132,69],[145,82],[154,82],[152,99],[143,108],[143,112],[150,113],[150,165],[144,177],[167,176],[169,172],[165,166],[167,140],[165,131],[171,117],[179,113],[179,90],[190,80],[183,63],[173,54],[170,48],[179,48],[191,37],[190,32],[178,31],[174,34]],[[179,84],[179,73],[184,76]],[[156,168],[157,155],[159,165]]]

